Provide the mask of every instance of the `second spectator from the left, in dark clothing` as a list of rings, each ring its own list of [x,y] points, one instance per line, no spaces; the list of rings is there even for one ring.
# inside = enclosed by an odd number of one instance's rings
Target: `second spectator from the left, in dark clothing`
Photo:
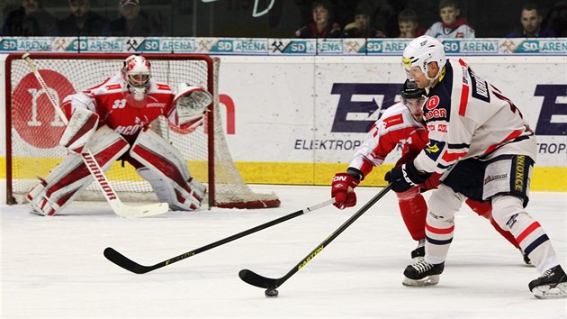
[[[108,20],[91,11],[91,0],[69,0],[71,14],[59,20],[60,36],[110,35]]]

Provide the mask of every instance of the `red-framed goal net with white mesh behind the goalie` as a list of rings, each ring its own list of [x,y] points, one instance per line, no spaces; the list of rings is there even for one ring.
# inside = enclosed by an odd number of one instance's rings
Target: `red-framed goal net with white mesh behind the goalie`
[[[94,87],[121,69],[130,54],[36,53],[31,55],[50,93],[61,101],[78,90]],[[152,130],[179,150],[194,178],[207,184],[209,206],[276,207],[275,194],[257,194],[246,185],[229,153],[219,110],[220,59],[196,54],[145,54],[152,77],[175,89],[180,82],[207,87],[214,96],[204,125],[193,132],[170,126],[163,116]],[[58,146],[64,130],[49,99],[33,77],[22,54],[6,59],[6,191],[8,204],[25,202],[25,195],[67,156]],[[123,201],[157,201],[152,188],[130,164],[117,161],[106,173]],[[93,183],[79,197],[104,200]]]

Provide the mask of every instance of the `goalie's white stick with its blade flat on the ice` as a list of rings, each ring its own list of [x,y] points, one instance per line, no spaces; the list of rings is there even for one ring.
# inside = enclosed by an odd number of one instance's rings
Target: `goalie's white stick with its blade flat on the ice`
[[[51,105],[53,105],[55,112],[61,118],[61,121],[65,123],[65,125],[67,125],[69,123],[67,117],[61,110],[58,101],[56,101],[55,98],[49,93],[48,86],[43,80],[43,77],[41,77],[40,71],[35,67],[35,63],[33,63],[33,60],[30,57],[30,53],[23,54],[22,59],[25,59],[25,61],[28,62],[28,66],[30,67],[31,72],[33,72],[35,78],[37,78],[38,82],[40,82],[40,86],[41,88],[43,88],[45,95],[48,96],[49,102],[51,103]],[[108,204],[111,205],[114,214],[117,214],[121,217],[146,217],[155,216],[157,214],[165,214],[169,211],[169,205],[167,205],[166,203],[137,206],[123,204],[118,197],[118,194],[116,193],[116,191],[114,191],[114,188],[112,188],[108,179],[104,175],[103,169],[101,169],[98,162],[94,159],[93,153],[90,150],[84,148],[81,152],[81,157],[85,162],[86,168],[93,176],[94,181],[96,181],[96,184],[98,184],[98,186],[101,188],[104,198],[106,198]]]

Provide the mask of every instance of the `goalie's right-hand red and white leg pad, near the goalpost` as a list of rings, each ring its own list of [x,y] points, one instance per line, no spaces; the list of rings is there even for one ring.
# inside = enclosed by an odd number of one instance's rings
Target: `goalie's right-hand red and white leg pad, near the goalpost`
[[[155,132],[140,132],[130,157],[144,166],[137,169],[139,176],[148,180],[159,201],[169,204],[171,210],[201,208],[206,187],[190,176],[179,151]]]

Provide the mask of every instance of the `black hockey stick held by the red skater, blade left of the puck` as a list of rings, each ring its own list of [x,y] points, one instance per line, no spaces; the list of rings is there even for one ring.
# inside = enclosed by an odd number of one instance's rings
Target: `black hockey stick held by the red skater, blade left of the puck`
[[[275,220],[273,220],[273,221],[271,221],[271,222],[262,223],[261,225],[257,225],[256,227],[250,228],[250,229],[248,229],[248,230],[246,230],[246,231],[244,231],[244,232],[238,232],[238,233],[236,233],[236,234],[234,234],[234,235],[232,235],[232,236],[229,236],[229,237],[227,237],[227,238],[221,239],[220,241],[212,242],[212,243],[210,243],[210,244],[208,244],[208,245],[204,245],[204,246],[202,246],[201,248],[197,248],[197,249],[195,249],[195,250],[193,250],[193,251],[187,251],[187,252],[185,252],[185,253],[183,253],[183,254],[181,254],[181,255],[179,255],[179,256],[175,256],[175,257],[173,257],[173,258],[171,258],[171,259],[158,262],[157,264],[155,264],[155,265],[153,265],[153,266],[143,266],[143,265],[140,265],[140,264],[137,263],[136,261],[130,260],[130,259],[127,258],[126,256],[122,255],[120,252],[115,251],[115,250],[112,249],[111,247],[107,247],[107,248],[104,250],[104,257],[106,257],[107,260],[111,260],[113,263],[115,263],[116,265],[120,266],[120,267],[123,268],[123,269],[126,269],[126,270],[131,271],[131,272],[136,273],[136,274],[145,274],[145,273],[147,273],[147,272],[149,272],[149,271],[152,271],[152,270],[155,270],[155,269],[160,269],[160,268],[162,268],[162,267],[169,266],[169,265],[173,264],[174,262],[177,262],[177,261],[179,261],[179,260],[184,260],[184,259],[186,259],[186,258],[192,257],[193,255],[196,255],[196,254],[198,254],[198,253],[200,253],[200,252],[202,252],[202,251],[211,250],[211,249],[213,249],[213,248],[215,248],[215,247],[217,247],[217,246],[223,245],[223,244],[228,243],[228,242],[232,242],[232,241],[234,241],[234,240],[237,240],[238,238],[247,236],[247,235],[249,235],[249,234],[251,234],[251,233],[259,232],[259,231],[261,231],[261,230],[263,230],[263,229],[266,229],[266,228],[268,228],[268,227],[272,227],[272,226],[274,226],[275,224],[283,223],[283,222],[285,222],[285,221],[287,221],[287,220],[290,220],[290,219],[295,218],[295,217],[297,217],[297,216],[300,216],[300,215],[302,215],[302,214],[309,213],[309,212],[311,212],[311,211],[314,211],[314,210],[316,210],[316,209],[319,209],[319,208],[321,208],[321,207],[324,207],[324,206],[326,206],[326,205],[330,205],[330,204],[333,204],[333,203],[335,203],[335,199],[334,199],[334,198],[333,198],[333,199],[329,199],[329,200],[327,200],[327,201],[325,201],[325,202],[323,202],[323,203],[320,203],[320,204],[318,204],[318,205],[312,205],[311,207],[307,207],[307,208],[300,209],[300,210],[297,211],[297,212],[294,212],[294,213],[292,213],[292,214],[286,214],[285,216],[282,216],[282,217],[280,217],[280,218],[277,218],[277,219],[275,219]]]

